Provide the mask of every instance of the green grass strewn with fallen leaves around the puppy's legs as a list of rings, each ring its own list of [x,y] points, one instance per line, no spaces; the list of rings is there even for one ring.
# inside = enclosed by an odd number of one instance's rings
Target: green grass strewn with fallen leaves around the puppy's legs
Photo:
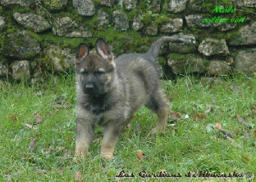
[[[156,116],[142,107],[125,128],[111,162],[99,157],[102,128],[97,128],[90,154],[79,163],[72,160],[74,75],[45,87],[1,84],[0,181],[74,181],[75,176],[107,181],[122,170],[134,172],[133,181],[141,181],[141,171],[180,172],[183,181],[195,171],[256,176],[255,77],[214,83],[183,77],[163,84],[172,103],[166,132],[150,134]]]

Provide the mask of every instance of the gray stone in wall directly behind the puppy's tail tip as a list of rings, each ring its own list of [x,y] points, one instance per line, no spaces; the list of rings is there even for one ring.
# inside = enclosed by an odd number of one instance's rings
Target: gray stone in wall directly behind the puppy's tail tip
[[[182,40],[182,43],[170,42],[171,52],[186,53],[193,52],[196,50],[196,39],[195,36],[193,36],[193,34],[179,33],[175,36],[180,38],[180,40]]]

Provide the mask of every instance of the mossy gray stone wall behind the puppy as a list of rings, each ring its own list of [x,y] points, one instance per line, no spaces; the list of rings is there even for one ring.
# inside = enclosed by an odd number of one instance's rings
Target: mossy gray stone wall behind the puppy
[[[256,71],[254,0],[0,0],[0,78],[44,82],[74,66],[80,42],[97,38],[115,56],[145,52],[159,36],[167,43],[159,67],[184,73],[228,75]],[[163,69],[162,69],[163,68]]]

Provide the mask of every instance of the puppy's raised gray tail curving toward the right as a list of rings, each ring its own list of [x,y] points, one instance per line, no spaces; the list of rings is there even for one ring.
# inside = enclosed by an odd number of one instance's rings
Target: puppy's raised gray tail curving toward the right
[[[163,36],[159,39],[156,40],[156,42],[154,42],[150,49],[148,50],[147,54],[150,54],[153,57],[157,57],[159,50],[161,48],[161,45],[164,42],[175,42],[175,43],[182,43],[183,41],[180,40],[179,38],[173,37],[173,36]]]

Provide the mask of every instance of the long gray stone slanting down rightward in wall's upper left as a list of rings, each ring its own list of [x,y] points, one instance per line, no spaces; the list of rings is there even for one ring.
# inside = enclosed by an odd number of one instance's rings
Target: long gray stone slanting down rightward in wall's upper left
[[[33,13],[13,13],[13,18],[22,26],[31,28],[36,33],[40,33],[51,28],[49,22],[47,22],[43,17]]]

